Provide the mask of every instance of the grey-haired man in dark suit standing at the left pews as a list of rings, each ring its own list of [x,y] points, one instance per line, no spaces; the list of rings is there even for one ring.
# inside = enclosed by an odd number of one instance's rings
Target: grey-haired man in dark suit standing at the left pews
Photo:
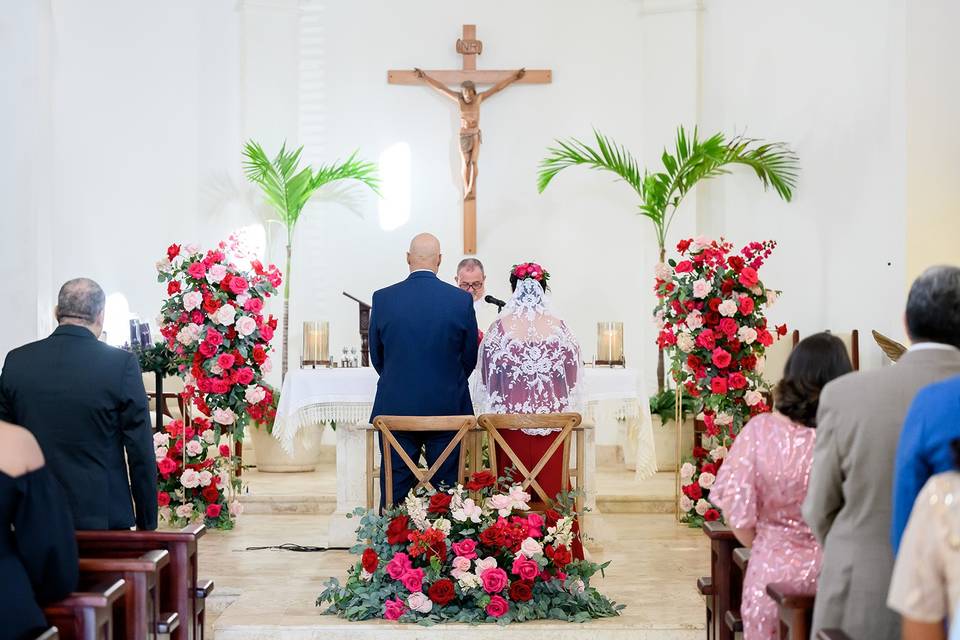
[[[143,378],[132,353],[97,339],[104,304],[93,280],[60,288],[56,331],[7,354],[0,420],[37,438],[77,529],[156,529],[157,464]]]

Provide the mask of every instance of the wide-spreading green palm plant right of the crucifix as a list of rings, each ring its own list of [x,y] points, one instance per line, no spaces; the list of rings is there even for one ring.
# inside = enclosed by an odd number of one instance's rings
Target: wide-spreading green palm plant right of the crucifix
[[[764,189],[773,187],[787,202],[796,187],[799,162],[783,142],[765,143],[739,135],[728,140],[723,133],[701,140],[696,128],[693,136],[688,136],[681,126],[677,129],[674,152],[664,149],[660,156],[663,170],[641,173],[636,158],[624,146],[597,130],[593,135],[595,146],[575,138],[557,140],[557,146],[549,148],[547,157],[540,162],[537,188],[543,193],[554,176],[577,165],[619,176],[640,196],[639,213],[649,218],[656,229],[660,262],[666,260],[667,233],[680,203],[700,180],[730,173],[731,165],[746,165],[753,169]],[[663,390],[662,351],[657,363],[657,389]]]

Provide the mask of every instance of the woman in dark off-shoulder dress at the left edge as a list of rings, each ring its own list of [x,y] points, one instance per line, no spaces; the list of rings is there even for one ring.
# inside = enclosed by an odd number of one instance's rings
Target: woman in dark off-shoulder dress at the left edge
[[[41,607],[77,586],[66,498],[30,432],[0,422],[0,637],[34,638]]]

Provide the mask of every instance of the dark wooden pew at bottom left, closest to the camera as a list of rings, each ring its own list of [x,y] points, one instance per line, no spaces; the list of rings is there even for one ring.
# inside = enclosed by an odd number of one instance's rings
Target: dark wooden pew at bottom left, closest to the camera
[[[63,640],[106,640],[114,635],[113,609],[127,591],[123,580],[91,585],[83,591],[48,604],[47,622]],[[47,633],[50,633],[49,630]]]

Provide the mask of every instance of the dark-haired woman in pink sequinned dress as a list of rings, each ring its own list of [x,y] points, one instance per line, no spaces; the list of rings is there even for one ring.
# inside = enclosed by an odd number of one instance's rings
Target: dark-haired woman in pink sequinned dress
[[[753,548],[740,606],[744,640],[777,637],[777,605],[767,595],[768,584],[816,591],[820,545],[800,507],[810,478],[820,390],[852,369],[839,338],[817,333],[800,341],[775,390],[777,411],[743,427],[710,491],[737,539]]]

